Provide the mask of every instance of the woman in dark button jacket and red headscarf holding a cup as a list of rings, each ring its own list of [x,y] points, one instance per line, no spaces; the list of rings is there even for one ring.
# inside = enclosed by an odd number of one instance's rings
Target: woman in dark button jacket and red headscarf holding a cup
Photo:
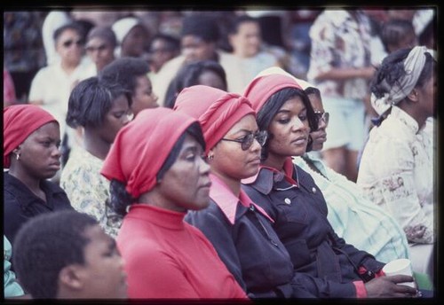
[[[383,262],[337,236],[321,190],[292,163],[292,156],[304,154],[310,130],[317,129],[299,84],[287,75],[270,74],[250,82],[244,95],[258,113],[259,129],[269,134],[258,175],[242,181],[244,189],[274,219],[298,281],[321,298],[416,295],[415,288],[396,285],[412,277],[384,277]]]

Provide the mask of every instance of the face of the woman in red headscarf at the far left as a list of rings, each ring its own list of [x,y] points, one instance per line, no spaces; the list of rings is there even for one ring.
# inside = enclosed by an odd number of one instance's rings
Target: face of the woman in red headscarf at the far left
[[[17,163],[28,176],[52,178],[60,169],[60,142],[59,123],[44,124],[19,145],[20,160]]]

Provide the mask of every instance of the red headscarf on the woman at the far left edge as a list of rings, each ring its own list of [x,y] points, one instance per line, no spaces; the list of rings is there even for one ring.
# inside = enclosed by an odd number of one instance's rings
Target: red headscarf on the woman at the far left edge
[[[59,123],[50,113],[35,105],[12,105],[3,110],[3,163],[10,167],[10,154],[30,134],[51,121]]]

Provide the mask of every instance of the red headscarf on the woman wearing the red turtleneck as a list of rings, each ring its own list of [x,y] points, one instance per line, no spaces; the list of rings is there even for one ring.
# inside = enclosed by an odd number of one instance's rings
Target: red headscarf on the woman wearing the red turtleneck
[[[139,198],[155,186],[172,147],[195,121],[170,108],[142,110],[117,133],[100,174],[126,184],[126,191]]]

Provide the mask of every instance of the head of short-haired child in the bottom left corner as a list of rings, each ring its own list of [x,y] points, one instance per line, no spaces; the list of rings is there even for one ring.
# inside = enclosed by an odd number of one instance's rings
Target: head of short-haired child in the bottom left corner
[[[126,298],[115,240],[90,215],[37,215],[20,229],[13,249],[17,278],[33,298]]]

